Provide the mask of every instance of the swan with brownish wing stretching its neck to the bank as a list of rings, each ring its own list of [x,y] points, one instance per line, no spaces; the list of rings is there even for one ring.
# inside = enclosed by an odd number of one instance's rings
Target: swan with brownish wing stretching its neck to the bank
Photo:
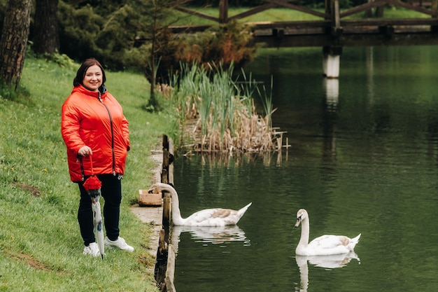
[[[242,209],[236,211],[232,209],[204,209],[197,211],[196,213],[188,216],[187,218],[181,217],[181,211],[179,209],[178,193],[176,190],[167,183],[154,183],[150,186],[149,193],[157,193],[157,191],[166,190],[171,194],[171,214],[172,223],[174,225],[186,225],[186,226],[225,226],[235,225],[240,218],[245,214],[246,210],[252,203],[247,204]]]

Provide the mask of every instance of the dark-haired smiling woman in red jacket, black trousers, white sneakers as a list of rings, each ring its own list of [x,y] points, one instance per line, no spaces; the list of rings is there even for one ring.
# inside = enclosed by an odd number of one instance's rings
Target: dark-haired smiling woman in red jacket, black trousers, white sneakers
[[[83,187],[93,173],[101,181],[104,197],[105,246],[134,251],[119,237],[121,179],[129,151],[128,122],[122,106],[105,87],[105,71],[95,59],[87,59],[73,80],[71,95],[62,105],[62,137],[67,147],[71,181],[78,183],[78,222],[83,238],[83,254],[100,256],[94,239],[90,195]],[[91,161],[92,160],[92,161]]]

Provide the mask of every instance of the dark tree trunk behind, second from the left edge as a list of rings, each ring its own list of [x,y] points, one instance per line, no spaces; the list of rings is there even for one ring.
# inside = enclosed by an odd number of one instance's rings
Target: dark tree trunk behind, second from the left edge
[[[59,51],[58,0],[36,0],[34,24],[34,52],[37,54]]]

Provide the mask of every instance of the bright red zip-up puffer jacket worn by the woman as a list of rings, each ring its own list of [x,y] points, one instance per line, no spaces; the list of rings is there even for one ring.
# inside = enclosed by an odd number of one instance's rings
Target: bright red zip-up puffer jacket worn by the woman
[[[128,121],[122,106],[109,92],[92,92],[82,85],[73,88],[62,104],[62,138],[67,146],[71,181],[91,175],[90,156],[78,158],[89,146],[94,174],[124,174],[129,151]]]

